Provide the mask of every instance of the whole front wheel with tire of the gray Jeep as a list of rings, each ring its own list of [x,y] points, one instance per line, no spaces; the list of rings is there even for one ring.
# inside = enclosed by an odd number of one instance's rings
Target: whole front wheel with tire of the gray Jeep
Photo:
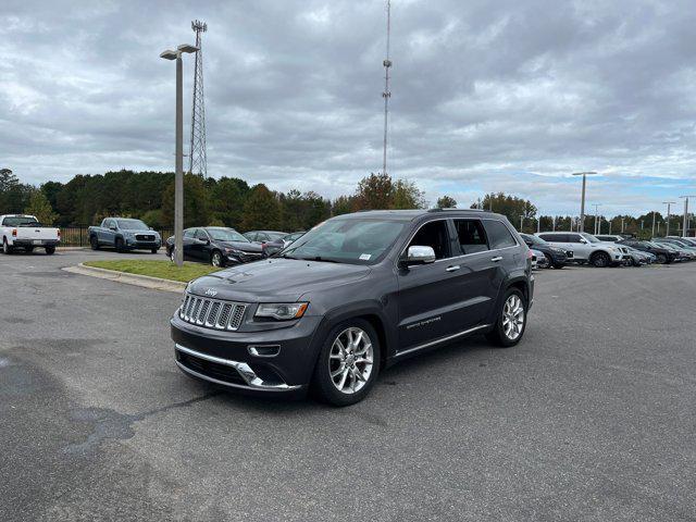
[[[361,401],[380,373],[380,338],[362,319],[336,325],[326,337],[314,368],[312,388],[334,406]]]

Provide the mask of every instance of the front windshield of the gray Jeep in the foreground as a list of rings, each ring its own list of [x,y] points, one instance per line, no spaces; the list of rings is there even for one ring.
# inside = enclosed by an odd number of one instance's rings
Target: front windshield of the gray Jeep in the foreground
[[[391,247],[405,222],[369,219],[330,220],[283,250],[282,257],[372,264]]]

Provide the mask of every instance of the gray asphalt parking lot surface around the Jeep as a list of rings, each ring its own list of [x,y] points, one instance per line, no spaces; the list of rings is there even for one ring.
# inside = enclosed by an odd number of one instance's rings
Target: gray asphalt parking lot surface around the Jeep
[[[0,257],[2,521],[696,520],[696,263],[538,272],[520,346],[335,409],[187,378],[177,295],[60,270],[115,256]]]

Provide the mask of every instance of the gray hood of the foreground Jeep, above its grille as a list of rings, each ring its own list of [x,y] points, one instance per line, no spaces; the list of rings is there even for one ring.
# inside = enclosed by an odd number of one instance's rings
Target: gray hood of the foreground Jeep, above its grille
[[[195,279],[197,296],[241,302],[295,302],[302,295],[361,279],[370,268],[359,264],[270,259],[241,264]]]

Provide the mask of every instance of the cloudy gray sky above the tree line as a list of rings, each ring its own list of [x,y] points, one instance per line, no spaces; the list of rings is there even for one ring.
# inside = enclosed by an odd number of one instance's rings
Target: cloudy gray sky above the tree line
[[[172,170],[158,57],[200,18],[209,173],[352,192],[382,167],[385,16],[382,0],[2,0],[0,167]],[[428,200],[504,190],[577,213],[580,170],[601,173],[588,203],[607,214],[696,194],[692,0],[393,0],[391,21],[387,170]]]

